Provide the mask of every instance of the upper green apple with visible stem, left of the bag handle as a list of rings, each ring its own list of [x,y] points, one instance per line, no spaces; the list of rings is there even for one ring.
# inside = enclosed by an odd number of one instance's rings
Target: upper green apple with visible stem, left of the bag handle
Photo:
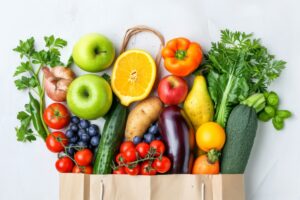
[[[100,72],[112,64],[115,48],[104,35],[90,33],[81,37],[75,44],[72,56],[81,69],[88,72]]]

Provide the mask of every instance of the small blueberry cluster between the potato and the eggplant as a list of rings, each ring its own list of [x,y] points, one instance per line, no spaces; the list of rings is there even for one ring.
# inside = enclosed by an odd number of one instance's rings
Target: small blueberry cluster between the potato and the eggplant
[[[133,138],[133,143],[135,145],[141,143],[141,142],[146,142],[148,144],[150,144],[153,140],[161,140],[161,135],[159,133],[159,130],[158,130],[158,123],[154,123],[152,124],[147,132],[144,134],[143,137],[139,137],[139,136],[135,136]]]

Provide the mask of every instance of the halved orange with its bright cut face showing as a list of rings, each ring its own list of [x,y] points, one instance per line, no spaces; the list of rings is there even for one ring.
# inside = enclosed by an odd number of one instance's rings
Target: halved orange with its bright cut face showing
[[[116,60],[111,86],[121,103],[130,103],[146,98],[156,78],[156,65],[152,56],[138,49],[127,50]]]

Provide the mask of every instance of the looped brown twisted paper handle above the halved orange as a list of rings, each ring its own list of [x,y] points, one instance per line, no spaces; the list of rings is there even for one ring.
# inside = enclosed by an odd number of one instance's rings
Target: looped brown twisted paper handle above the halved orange
[[[159,50],[158,50],[158,52],[156,54],[156,57],[155,57],[156,66],[159,66],[160,61],[161,61],[161,49],[165,45],[165,39],[164,39],[164,36],[160,32],[158,32],[157,30],[154,30],[153,28],[150,28],[148,26],[139,25],[139,26],[134,26],[132,28],[129,28],[126,31],[125,35],[124,35],[120,53],[123,53],[126,50],[126,47],[128,45],[128,42],[129,42],[130,38],[132,36],[138,34],[138,33],[141,33],[141,32],[150,32],[150,33],[153,33],[160,40]]]

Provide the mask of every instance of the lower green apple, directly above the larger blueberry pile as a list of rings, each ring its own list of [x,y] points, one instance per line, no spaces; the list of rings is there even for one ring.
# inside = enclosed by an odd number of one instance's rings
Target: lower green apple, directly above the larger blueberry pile
[[[112,98],[110,85],[95,74],[76,78],[67,92],[67,104],[71,112],[83,119],[105,115],[111,107]]]

